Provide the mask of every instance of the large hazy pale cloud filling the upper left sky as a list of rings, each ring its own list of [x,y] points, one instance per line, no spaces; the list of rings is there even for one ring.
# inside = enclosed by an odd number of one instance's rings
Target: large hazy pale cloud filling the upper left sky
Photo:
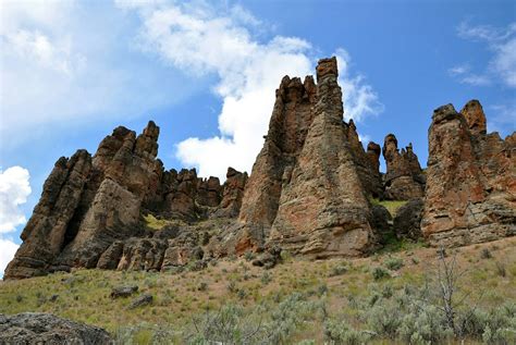
[[[132,19],[110,2],[0,1],[0,16],[2,150],[44,126],[139,116],[196,87],[143,60]]]

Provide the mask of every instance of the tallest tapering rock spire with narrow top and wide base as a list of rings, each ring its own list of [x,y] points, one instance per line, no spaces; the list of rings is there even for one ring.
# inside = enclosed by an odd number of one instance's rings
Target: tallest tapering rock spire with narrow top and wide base
[[[317,82],[314,120],[284,174],[270,242],[320,258],[357,256],[372,243],[371,212],[346,139],[335,58],[319,61]]]

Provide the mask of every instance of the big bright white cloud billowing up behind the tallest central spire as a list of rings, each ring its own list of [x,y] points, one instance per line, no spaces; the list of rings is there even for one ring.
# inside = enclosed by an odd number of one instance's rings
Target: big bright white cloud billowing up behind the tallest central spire
[[[222,99],[220,134],[188,138],[177,145],[176,156],[184,164],[197,167],[200,175],[224,180],[228,167],[250,171],[267,133],[274,89],[285,74],[312,74],[314,48],[298,37],[274,36],[260,41],[255,30],[262,23],[242,7],[195,3],[119,2],[124,9],[139,11],[140,49],[191,75],[218,75],[213,91]],[[382,106],[372,87],[364,76],[352,75],[349,54],[339,49],[335,56],[346,119],[361,121],[380,112]]]

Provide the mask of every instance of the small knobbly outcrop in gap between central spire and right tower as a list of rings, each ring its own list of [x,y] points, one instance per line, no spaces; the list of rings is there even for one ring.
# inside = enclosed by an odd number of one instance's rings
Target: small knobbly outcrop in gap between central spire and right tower
[[[409,200],[423,197],[426,177],[413,151],[413,145],[408,144],[400,151],[396,137],[394,134],[389,134],[383,143],[382,153],[386,165],[386,173],[383,176],[384,198]]]

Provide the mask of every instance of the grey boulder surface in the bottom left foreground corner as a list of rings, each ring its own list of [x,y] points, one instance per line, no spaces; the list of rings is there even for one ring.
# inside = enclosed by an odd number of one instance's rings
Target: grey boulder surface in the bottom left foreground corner
[[[0,315],[0,344],[111,344],[108,332],[49,313]]]

